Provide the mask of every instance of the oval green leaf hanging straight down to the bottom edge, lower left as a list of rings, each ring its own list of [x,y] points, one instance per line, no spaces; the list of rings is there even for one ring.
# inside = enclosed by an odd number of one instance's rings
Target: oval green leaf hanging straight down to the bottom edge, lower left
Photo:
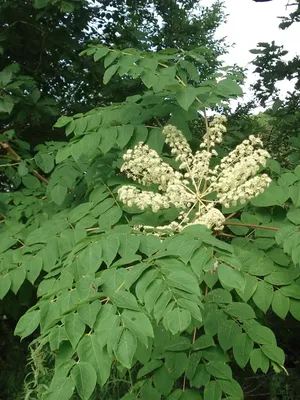
[[[91,364],[77,363],[71,372],[71,377],[82,400],[89,400],[97,382],[97,375]]]

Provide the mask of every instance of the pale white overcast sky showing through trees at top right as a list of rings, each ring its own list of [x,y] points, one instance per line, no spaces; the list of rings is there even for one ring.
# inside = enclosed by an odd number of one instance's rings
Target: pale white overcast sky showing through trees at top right
[[[210,6],[214,0],[202,0],[201,5]],[[294,1],[290,1],[292,3]],[[256,3],[253,0],[223,0],[228,15],[227,23],[222,25],[217,36],[227,36],[229,43],[235,43],[235,47],[229,50],[229,54],[223,59],[227,65],[237,63],[240,66],[248,66],[248,81],[245,87],[246,96],[250,98],[247,86],[255,81],[255,75],[251,73],[251,60],[255,57],[249,52],[256,47],[258,42],[275,41],[277,45],[283,45],[289,54],[286,59],[300,53],[299,37],[300,24],[295,23],[290,28],[281,30],[278,28],[279,16],[287,16],[295,7],[286,7],[288,0],[273,0],[266,3]],[[252,69],[253,71],[253,69]],[[280,85],[281,96],[293,87],[292,83],[284,82]]]

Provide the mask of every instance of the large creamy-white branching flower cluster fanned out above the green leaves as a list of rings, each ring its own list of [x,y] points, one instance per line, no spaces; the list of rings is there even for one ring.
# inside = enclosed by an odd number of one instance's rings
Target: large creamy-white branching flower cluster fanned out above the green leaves
[[[151,207],[154,212],[170,206],[183,209],[180,222],[173,221],[159,229],[179,231],[191,224],[223,229],[225,217],[216,208],[217,203],[224,207],[238,202],[243,204],[262,193],[271,182],[266,174],[257,175],[260,167],[266,165],[269,154],[261,148],[261,140],[254,136],[244,140],[219,165],[210,167],[212,156],[217,154],[213,147],[222,141],[226,132],[225,122],[224,116],[213,119],[200,145],[202,150],[195,154],[176,127],[167,125],[163,129],[171,153],[181,162],[182,173],[175,171],[143,143],[128,150],[123,156],[125,162],[121,171],[139,184],[156,185],[157,192],[123,186],[118,191],[120,200],[141,210]],[[210,199],[208,195],[211,195]]]

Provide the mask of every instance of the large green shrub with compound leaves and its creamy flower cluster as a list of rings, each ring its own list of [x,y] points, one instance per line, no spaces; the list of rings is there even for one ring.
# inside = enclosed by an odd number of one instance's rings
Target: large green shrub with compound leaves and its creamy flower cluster
[[[105,59],[105,82],[126,74],[145,91],[62,116],[68,141],[34,158],[1,135],[17,183],[0,198],[0,299],[27,307],[15,328],[33,341],[26,396],[107,398],[117,375],[123,400],[241,400],[232,366],[285,371],[264,314],[300,320],[300,169],[281,171],[252,136],[219,160],[224,117],[193,154],[189,123],[241,94],[230,70],[195,76],[200,50],[87,52]]]

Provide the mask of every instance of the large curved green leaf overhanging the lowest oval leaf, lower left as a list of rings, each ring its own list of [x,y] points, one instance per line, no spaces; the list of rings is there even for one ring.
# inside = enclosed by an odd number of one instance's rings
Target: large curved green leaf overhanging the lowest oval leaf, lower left
[[[77,352],[80,362],[92,365],[97,374],[97,382],[103,386],[109,378],[112,359],[101,346],[98,336],[95,334],[84,336],[78,344]]]

